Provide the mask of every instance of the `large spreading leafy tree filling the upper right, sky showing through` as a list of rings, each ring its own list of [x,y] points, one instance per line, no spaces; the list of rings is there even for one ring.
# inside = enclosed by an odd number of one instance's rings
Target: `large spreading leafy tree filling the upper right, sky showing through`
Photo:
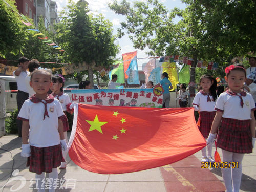
[[[197,60],[228,63],[234,56],[254,50],[254,32],[246,32],[243,26],[248,23],[253,25],[250,29],[255,29],[255,16],[249,22],[239,21],[255,15],[255,1],[183,2],[187,4],[184,10],[174,8],[170,11],[157,0],[136,1],[133,7],[125,0],[120,4],[114,1],[109,7],[115,13],[126,16],[126,22],[121,23],[119,37],[126,30],[135,48],[143,50],[148,46],[150,55],[179,54],[192,57],[190,82],[195,82]],[[236,13],[240,11],[245,16]],[[238,16],[234,16],[236,14]],[[174,23],[175,17],[180,18],[179,22]],[[247,46],[246,39],[250,40]]]

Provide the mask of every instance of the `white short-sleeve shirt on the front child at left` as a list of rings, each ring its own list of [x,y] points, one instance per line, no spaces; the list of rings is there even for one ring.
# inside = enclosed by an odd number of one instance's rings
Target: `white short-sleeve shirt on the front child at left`
[[[45,102],[42,100],[42,102]],[[49,117],[45,117],[45,105],[41,102],[33,103],[27,99],[22,105],[18,118],[29,121],[29,143],[35,147],[48,147],[58,145],[60,137],[58,132],[58,119],[64,115],[60,102],[54,99],[47,103]]]

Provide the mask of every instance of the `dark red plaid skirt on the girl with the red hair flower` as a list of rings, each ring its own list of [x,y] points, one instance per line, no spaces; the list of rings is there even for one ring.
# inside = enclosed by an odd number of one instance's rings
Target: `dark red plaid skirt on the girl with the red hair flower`
[[[234,153],[252,153],[250,120],[222,118],[217,146]]]

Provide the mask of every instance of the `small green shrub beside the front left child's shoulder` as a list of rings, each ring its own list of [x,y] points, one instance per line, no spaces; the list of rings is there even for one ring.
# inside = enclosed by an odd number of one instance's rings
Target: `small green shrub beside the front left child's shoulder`
[[[16,119],[18,115],[18,109],[15,111],[8,111],[7,114],[10,114],[5,118],[5,131],[6,133],[18,133]]]

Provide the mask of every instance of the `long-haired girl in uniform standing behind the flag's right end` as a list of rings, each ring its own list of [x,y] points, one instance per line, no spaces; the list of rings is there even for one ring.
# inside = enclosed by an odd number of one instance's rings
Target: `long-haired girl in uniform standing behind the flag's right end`
[[[193,107],[196,111],[199,111],[197,125],[203,137],[207,139],[216,114],[214,108],[217,100],[217,81],[210,75],[205,74],[200,77],[200,86],[202,90],[196,94],[193,100]],[[202,149],[202,162],[214,163],[214,159],[211,156],[212,143],[207,146],[207,150],[208,155],[206,156],[206,147]]]

